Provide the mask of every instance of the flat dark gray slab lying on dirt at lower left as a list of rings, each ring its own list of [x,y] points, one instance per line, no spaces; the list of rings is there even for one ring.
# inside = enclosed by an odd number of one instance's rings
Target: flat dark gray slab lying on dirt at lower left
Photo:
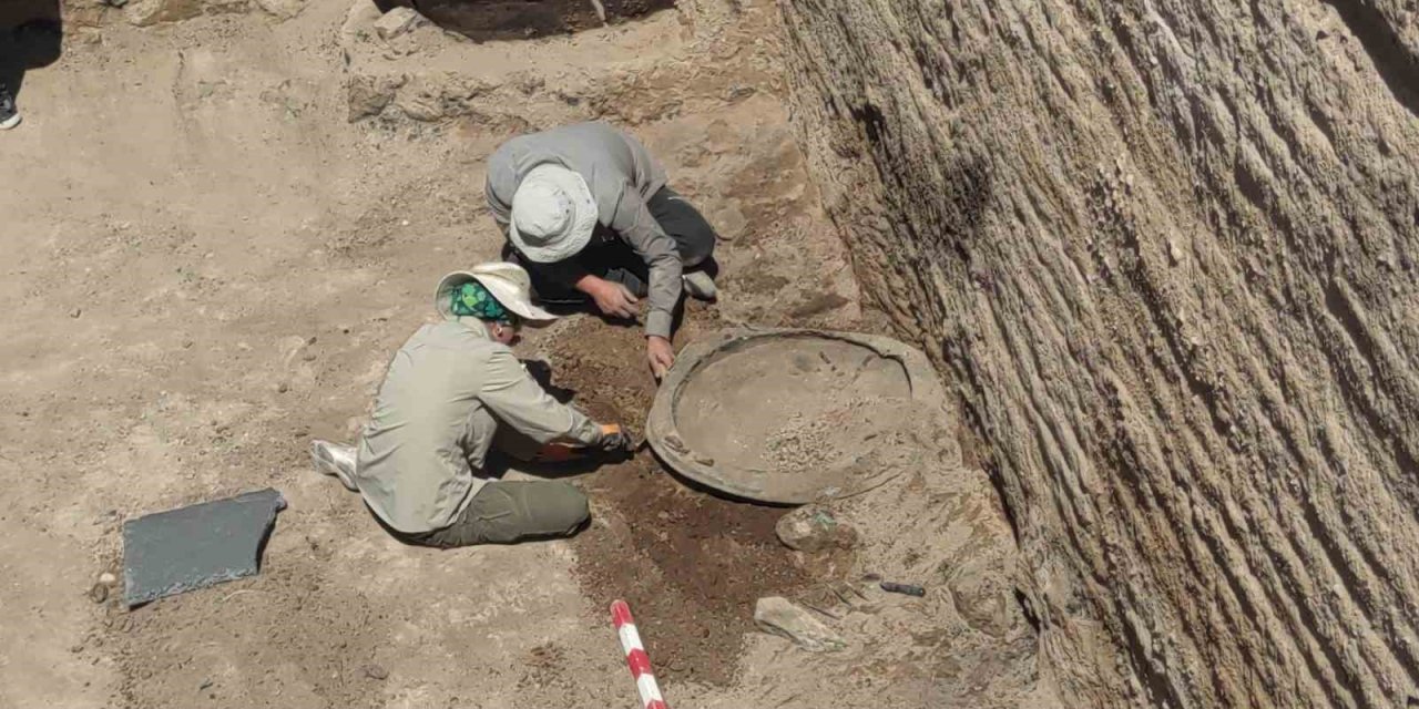
[[[255,576],[282,509],[285,498],[267,488],[125,522],[123,601],[132,608]]]

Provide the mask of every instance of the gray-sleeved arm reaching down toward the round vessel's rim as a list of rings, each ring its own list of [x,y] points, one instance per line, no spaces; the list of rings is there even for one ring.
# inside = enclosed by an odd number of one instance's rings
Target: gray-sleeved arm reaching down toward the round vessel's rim
[[[670,339],[675,303],[680,302],[683,264],[675,240],[670,238],[630,184],[622,187],[610,228],[646,261],[650,269],[650,295],[646,309],[646,336]]]

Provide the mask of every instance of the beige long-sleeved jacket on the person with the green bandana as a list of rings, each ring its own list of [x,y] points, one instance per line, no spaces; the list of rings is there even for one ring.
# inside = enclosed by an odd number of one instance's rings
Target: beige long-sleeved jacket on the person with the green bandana
[[[512,350],[465,318],[424,325],[394,354],[359,442],[355,484],[389,526],[451,525],[487,484],[484,459],[499,425],[539,444],[600,442],[600,428],[558,403]]]

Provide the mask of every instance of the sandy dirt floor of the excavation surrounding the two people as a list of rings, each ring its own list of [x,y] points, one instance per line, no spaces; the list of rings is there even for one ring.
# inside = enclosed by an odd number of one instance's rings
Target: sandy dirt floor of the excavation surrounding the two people
[[[721,230],[724,298],[677,345],[878,328],[779,99],[772,3],[526,43],[363,21],[349,0],[89,13],[26,77],[0,135],[0,706],[634,706],[613,597],[677,706],[1049,703],[1009,527],[955,451],[844,505],[863,545],[840,560],[646,452],[572,478],[596,518],[579,537],[455,552],[393,542],[315,475],[308,441],[353,435],[438,277],[495,257],[482,160],[526,129],[634,130]],[[644,420],[634,329],[569,318],[522,350],[592,414]],[[125,519],[264,486],[289,508],[261,576],[131,613],[92,593]],[[932,590],[844,610],[830,657],[753,632],[758,597],[866,570]]]

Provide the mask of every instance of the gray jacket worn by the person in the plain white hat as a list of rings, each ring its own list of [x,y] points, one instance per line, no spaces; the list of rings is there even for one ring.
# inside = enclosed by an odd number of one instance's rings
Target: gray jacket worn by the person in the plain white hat
[[[596,199],[600,224],[646,259],[650,267],[646,335],[670,337],[671,313],[680,302],[680,251],[646,207],[646,200],[666,186],[666,169],[640,140],[606,123],[575,123],[514,138],[488,157],[484,186],[488,208],[504,233],[518,186],[545,163],[579,173]]]

